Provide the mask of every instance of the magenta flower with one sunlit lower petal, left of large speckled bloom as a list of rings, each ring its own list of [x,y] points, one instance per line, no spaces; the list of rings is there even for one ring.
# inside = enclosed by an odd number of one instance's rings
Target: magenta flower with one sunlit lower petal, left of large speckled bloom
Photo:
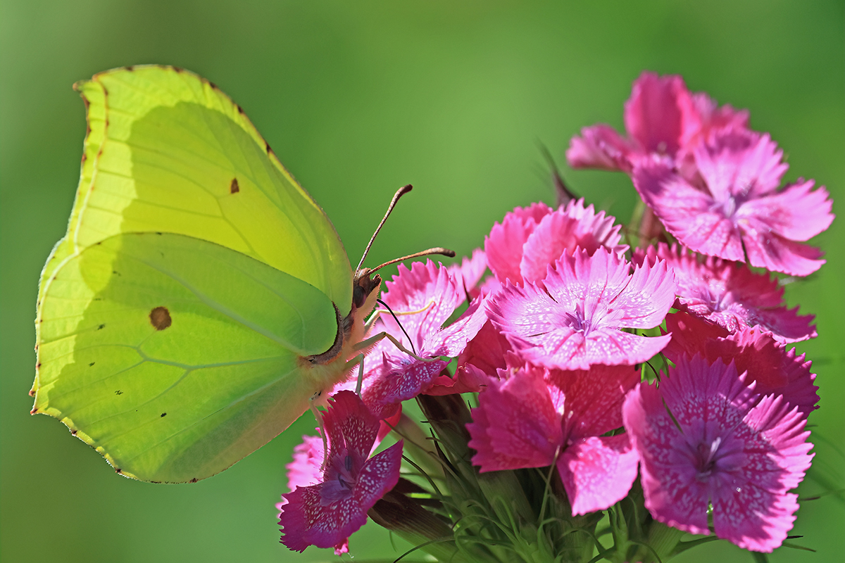
[[[466,425],[481,472],[556,463],[573,516],[624,498],[637,474],[628,436],[602,436],[622,425],[625,393],[640,382],[631,366],[503,371],[479,395]]]

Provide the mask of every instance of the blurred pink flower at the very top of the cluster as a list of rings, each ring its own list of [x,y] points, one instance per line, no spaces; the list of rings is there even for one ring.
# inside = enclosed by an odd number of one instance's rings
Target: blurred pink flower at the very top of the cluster
[[[681,165],[711,131],[745,128],[748,112],[717,108],[707,95],[690,94],[679,76],[642,73],[625,102],[624,119],[629,138],[607,125],[581,129],[566,151],[570,165],[630,172],[636,160],[649,154]]]

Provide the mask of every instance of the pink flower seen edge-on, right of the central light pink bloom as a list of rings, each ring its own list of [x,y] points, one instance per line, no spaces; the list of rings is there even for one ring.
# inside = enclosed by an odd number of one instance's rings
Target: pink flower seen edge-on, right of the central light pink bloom
[[[783,288],[768,275],[753,273],[742,264],[717,258],[700,259],[678,246],[659,244],[637,250],[635,263],[665,260],[678,281],[675,306],[714,322],[728,333],[742,327],[769,331],[780,342],[814,338],[811,316],[799,316],[798,307],[783,305]]]

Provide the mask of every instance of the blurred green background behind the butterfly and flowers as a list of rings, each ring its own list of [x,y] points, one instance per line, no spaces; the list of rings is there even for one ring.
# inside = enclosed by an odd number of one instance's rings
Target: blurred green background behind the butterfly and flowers
[[[3,561],[332,560],[278,543],[273,504],[284,464],[312,421],[213,479],[123,479],[57,420],[29,414],[35,295],[64,233],[79,176],[83,105],[71,84],[144,62],[189,68],[237,100],[323,205],[353,261],[396,187],[413,183],[370,263],[428,246],[466,254],[516,205],[552,203],[539,143],[563,163],[570,137],[622,125],[643,69],[749,108],[752,127],[785,150],[788,177],[815,178],[839,219],[815,243],[829,263],[788,285],[817,315],[821,409],[810,417],[815,465],[799,489],[793,533],[812,554],[845,554],[845,44],[842,1],[537,3],[3,0],[2,547]],[[572,187],[620,219],[626,176],[563,167]],[[395,558],[386,532],[352,538],[357,560]],[[750,561],[724,542],[677,560]],[[416,555],[412,560],[420,560]],[[347,559],[348,560],[348,559]]]

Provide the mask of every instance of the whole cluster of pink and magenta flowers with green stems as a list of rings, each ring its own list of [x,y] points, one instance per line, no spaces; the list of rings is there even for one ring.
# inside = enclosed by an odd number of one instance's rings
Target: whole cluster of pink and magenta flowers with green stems
[[[371,330],[413,354],[384,338],[335,389],[328,453],[306,436],[288,466],[282,543],[342,553],[368,515],[439,560],[665,560],[683,532],[783,543],[819,397],[790,347],[812,317],[775,273],[824,263],[804,243],[831,200],[780,187],[782,151],[748,113],[677,76],[643,73],[624,123],[586,127],[567,158],[628,174],[634,225],[561,192],[463,263],[386,283]],[[370,457],[391,429],[404,442]]]

